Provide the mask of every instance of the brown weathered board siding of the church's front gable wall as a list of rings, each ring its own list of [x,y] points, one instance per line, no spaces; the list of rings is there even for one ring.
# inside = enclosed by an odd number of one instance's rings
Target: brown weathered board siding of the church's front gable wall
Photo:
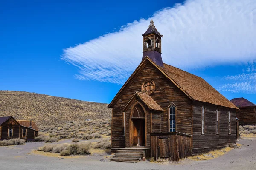
[[[127,87],[119,96],[118,101],[113,106],[112,119],[112,148],[125,147],[125,136],[123,136],[122,125],[122,111],[129,99],[134,95],[135,91],[141,91],[141,85],[146,80],[152,80],[155,83],[155,91],[151,94],[161,108],[162,113],[152,112],[152,119],[150,120],[151,111],[147,113],[147,125],[150,127],[152,122],[152,132],[167,132],[168,129],[168,112],[167,108],[173,102],[177,106],[177,131],[191,134],[192,133],[192,108],[191,100],[184,94],[176,85],[174,85],[168,78],[166,78],[157,68],[151,63],[147,62],[140,74],[134,79],[131,79]],[[145,108],[147,108],[145,106]],[[129,116],[129,113],[126,114]],[[129,122],[126,119],[126,133],[129,133]],[[148,129],[148,127],[147,127]],[[149,130],[148,132],[150,132]],[[149,140],[149,141],[148,141]],[[128,140],[126,139],[126,142]],[[147,138],[147,144],[150,143],[150,138]]]

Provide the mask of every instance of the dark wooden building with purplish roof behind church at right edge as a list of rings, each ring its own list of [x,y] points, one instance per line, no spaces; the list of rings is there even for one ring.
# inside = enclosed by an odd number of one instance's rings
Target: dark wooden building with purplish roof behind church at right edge
[[[256,125],[256,105],[243,97],[230,100],[239,110],[236,111],[236,117],[239,119],[239,125]]]

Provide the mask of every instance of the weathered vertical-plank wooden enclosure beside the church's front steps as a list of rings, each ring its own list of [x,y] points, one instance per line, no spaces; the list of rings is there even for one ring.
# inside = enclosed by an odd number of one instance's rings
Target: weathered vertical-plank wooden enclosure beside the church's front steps
[[[155,160],[179,161],[192,156],[191,136],[178,133],[151,133],[151,157]]]

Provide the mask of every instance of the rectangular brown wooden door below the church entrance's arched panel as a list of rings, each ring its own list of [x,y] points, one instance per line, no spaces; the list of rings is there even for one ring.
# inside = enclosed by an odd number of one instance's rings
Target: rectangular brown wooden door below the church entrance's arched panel
[[[145,119],[134,119],[132,132],[132,146],[145,146]]]

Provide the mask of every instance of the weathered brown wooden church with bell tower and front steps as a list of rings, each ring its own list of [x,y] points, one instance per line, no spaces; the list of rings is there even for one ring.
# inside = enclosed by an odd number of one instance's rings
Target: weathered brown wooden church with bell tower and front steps
[[[112,160],[174,160],[236,143],[236,110],[201,77],[163,63],[151,20],[142,62],[108,105]]]

